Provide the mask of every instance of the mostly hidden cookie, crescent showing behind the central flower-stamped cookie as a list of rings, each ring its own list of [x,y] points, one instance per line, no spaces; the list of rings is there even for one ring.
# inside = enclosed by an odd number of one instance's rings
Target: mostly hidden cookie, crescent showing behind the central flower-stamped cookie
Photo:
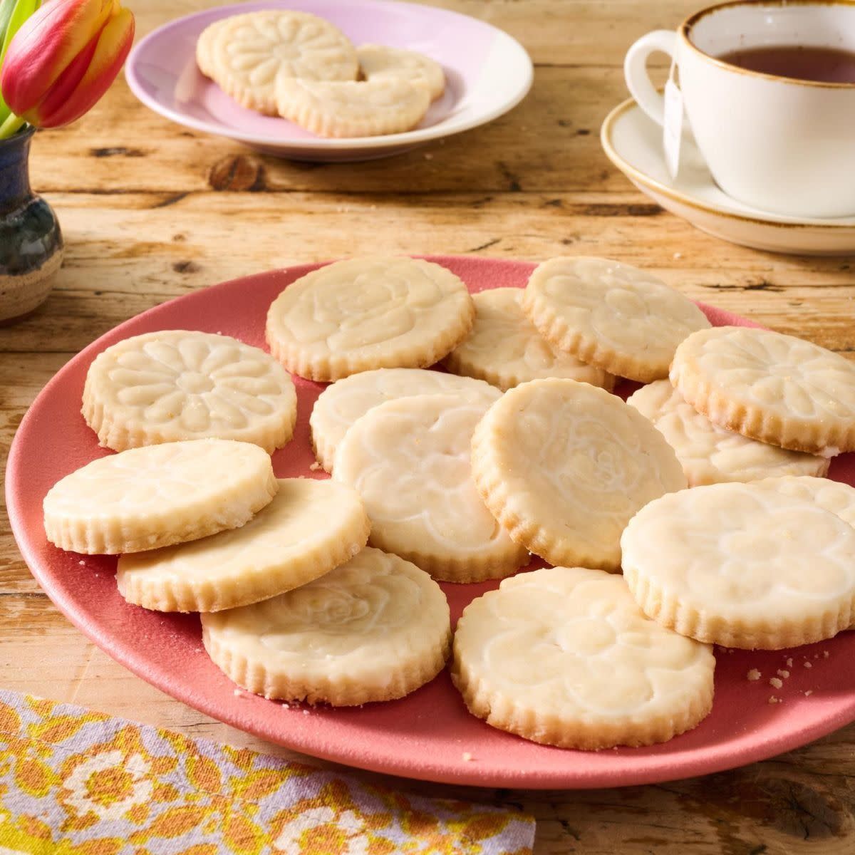
[[[459,394],[467,400],[492,404],[496,390],[483,380],[425,369],[363,371],[327,386],[315,401],[309,425],[318,463],[333,471],[333,457],[347,429],[372,407],[395,398],[436,392]]]

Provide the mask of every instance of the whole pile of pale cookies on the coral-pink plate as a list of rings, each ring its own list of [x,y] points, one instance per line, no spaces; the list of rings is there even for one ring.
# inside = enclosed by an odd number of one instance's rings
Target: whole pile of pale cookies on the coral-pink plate
[[[273,357],[181,331],[104,351],[84,414],[121,453],[44,505],[57,545],[124,553],[130,602],[202,612],[252,692],[400,697],[449,650],[434,580],[504,579],[457,624],[469,710],[551,745],[647,745],[710,711],[712,644],[855,620],[855,489],[822,477],[855,450],[842,357],[712,328],[650,274],[586,257],[474,298],[431,262],[336,262],[274,300],[266,338]],[[288,372],[333,381],[310,416],[331,480],[273,477]],[[624,403],[617,377],[648,385]],[[553,566],[505,578],[529,553]]]

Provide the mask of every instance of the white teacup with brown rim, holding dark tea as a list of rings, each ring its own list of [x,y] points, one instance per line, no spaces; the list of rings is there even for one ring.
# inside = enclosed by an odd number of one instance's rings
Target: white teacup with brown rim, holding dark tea
[[[689,124],[729,196],[778,214],[855,214],[855,84],[793,80],[716,59],[762,45],[855,51],[855,3],[737,0],[687,18],[676,32],[640,38],[624,62],[629,91],[663,123],[663,97],[646,70],[661,50],[679,68]]]

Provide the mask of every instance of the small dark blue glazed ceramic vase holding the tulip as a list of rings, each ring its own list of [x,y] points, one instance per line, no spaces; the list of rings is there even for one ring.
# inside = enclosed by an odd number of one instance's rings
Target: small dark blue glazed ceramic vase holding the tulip
[[[30,190],[32,127],[0,139],[0,324],[18,321],[44,303],[62,264],[56,215]]]

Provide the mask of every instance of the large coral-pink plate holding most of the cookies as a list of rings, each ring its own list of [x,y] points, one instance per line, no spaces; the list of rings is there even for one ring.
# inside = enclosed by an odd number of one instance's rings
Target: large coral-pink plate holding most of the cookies
[[[479,258],[432,260],[451,268],[474,292],[524,286],[533,268]],[[855,633],[790,652],[718,651],[711,716],[692,732],[650,748],[562,751],[504,734],[469,715],[445,672],[403,700],[304,714],[255,696],[235,697],[234,684],[203,651],[198,617],[128,605],[116,592],[115,558],[83,557],[48,544],[44,494],[63,475],[110,453],[98,447],[80,416],[86,369],[96,354],[127,336],[176,327],[227,333],[263,347],[271,300],[315,267],[225,282],[121,324],[56,374],[21,422],[6,480],[15,538],[45,592],[98,646],[174,698],[264,739],[363,769],[488,787],[614,787],[702,775],[804,745],[855,719]],[[726,312],[705,311],[716,324],[748,324]],[[297,433],[276,452],[274,466],[280,476],[319,477],[310,469],[309,414],[321,385],[296,380]],[[855,484],[852,457],[837,458],[832,475]],[[443,587],[456,620],[470,599],[495,586]],[[746,679],[752,668],[763,672],[761,681]],[[782,689],[768,683],[777,669],[791,674]],[[769,705],[773,693],[783,703]],[[470,762],[463,761],[464,752],[472,755]]]

